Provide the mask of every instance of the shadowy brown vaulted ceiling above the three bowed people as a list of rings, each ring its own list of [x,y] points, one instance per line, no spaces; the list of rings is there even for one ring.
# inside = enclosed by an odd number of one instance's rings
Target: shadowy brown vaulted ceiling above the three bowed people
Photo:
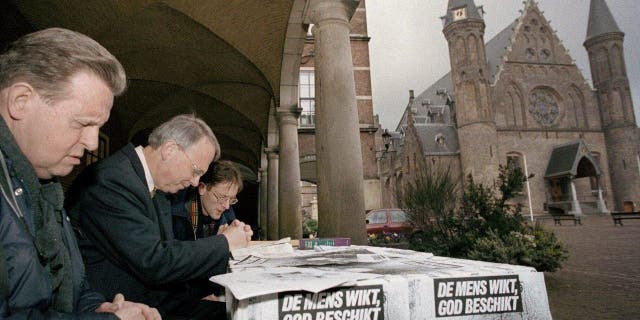
[[[302,11],[300,3],[15,0],[11,6],[34,30],[85,33],[120,60],[129,89],[111,115],[119,134],[128,138],[196,112],[216,133],[223,158],[255,171],[270,108],[279,100],[290,16]]]

